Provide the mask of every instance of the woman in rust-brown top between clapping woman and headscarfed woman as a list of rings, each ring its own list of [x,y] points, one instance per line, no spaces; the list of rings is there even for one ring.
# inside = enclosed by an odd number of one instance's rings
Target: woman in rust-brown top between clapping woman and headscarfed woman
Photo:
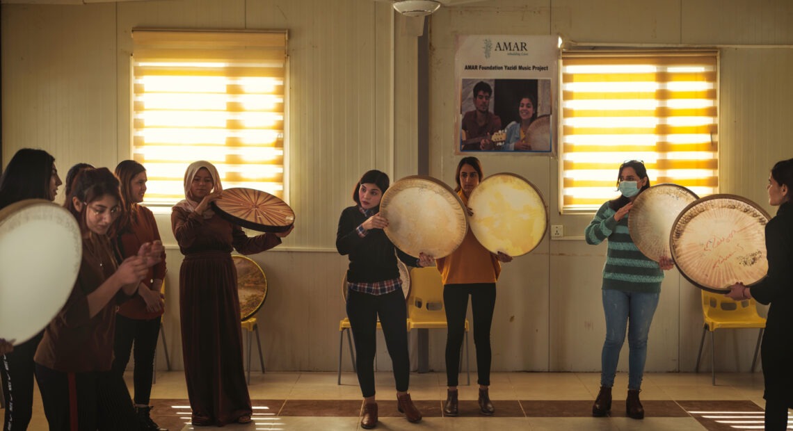
[[[119,218],[116,238],[121,257],[134,256],[146,242],[159,241],[159,231],[154,214],[141,206],[146,193],[146,168],[134,160],[125,160],[116,166],[116,176],[121,181],[124,211]],[[138,288],[137,295],[121,304],[116,314],[116,340],[113,352],[113,371],[124,376],[129,353],[135,345],[135,412],[142,429],[159,430],[151,420],[148,405],[151,381],[154,375],[154,355],[159,338],[159,325],[163,318],[163,279],[165,254],[162,260],[149,268]]]

